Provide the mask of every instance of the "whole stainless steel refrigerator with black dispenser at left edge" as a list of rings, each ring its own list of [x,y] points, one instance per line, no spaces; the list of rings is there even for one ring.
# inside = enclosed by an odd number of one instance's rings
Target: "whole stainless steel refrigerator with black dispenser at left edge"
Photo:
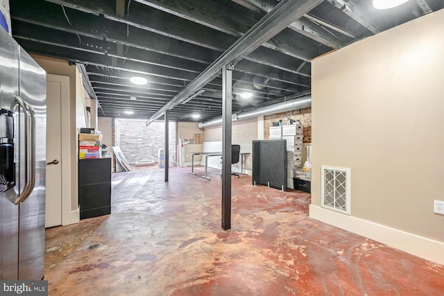
[[[0,279],[44,277],[46,72],[0,28]]]

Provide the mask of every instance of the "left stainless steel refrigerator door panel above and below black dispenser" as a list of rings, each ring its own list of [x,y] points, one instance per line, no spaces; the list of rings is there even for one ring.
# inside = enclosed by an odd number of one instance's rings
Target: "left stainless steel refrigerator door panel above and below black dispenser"
[[[19,91],[19,50],[17,43],[0,30],[0,106],[10,110]],[[0,193],[0,279],[17,279],[19,250],[19,207]]]

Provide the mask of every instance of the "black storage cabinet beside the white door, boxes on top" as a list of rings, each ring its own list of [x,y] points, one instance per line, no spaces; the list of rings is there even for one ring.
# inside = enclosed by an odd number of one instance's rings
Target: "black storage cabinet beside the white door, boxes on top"
[[[111,214],[111,158],[79,159],[80,219]]]

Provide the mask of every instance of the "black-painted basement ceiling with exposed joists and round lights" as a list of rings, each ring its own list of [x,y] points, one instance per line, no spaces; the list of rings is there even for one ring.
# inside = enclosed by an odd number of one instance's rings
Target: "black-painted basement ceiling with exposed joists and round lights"
[[[311,94],[311,59],[444,7],[409,0],[376,10],[370,0],[325,0],[307,9],[309,1],[292,1],[300,4],[293,23],[234,64],[234,113]],[[207,121],[222,114],[220,71],[194,94],[181,92],[278,3],[10,0],[10,14],[26,51],[78,65],[99,116],[162,119],[161,108],[180,99],[186,103],[171,108],[171,121]],[[132,76],[148,82],[134,85]]]

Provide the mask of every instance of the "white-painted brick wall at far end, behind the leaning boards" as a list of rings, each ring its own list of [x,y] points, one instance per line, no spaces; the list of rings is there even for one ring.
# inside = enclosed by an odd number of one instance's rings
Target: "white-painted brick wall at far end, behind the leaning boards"
[[[164,148],[164,122],[145,125],[145,120],[115,119],[115,145],[119,146],[130,164],[142,160],[158,162],[158,151]],[[169,162],[176,165],[175,122],[169,123]]]

